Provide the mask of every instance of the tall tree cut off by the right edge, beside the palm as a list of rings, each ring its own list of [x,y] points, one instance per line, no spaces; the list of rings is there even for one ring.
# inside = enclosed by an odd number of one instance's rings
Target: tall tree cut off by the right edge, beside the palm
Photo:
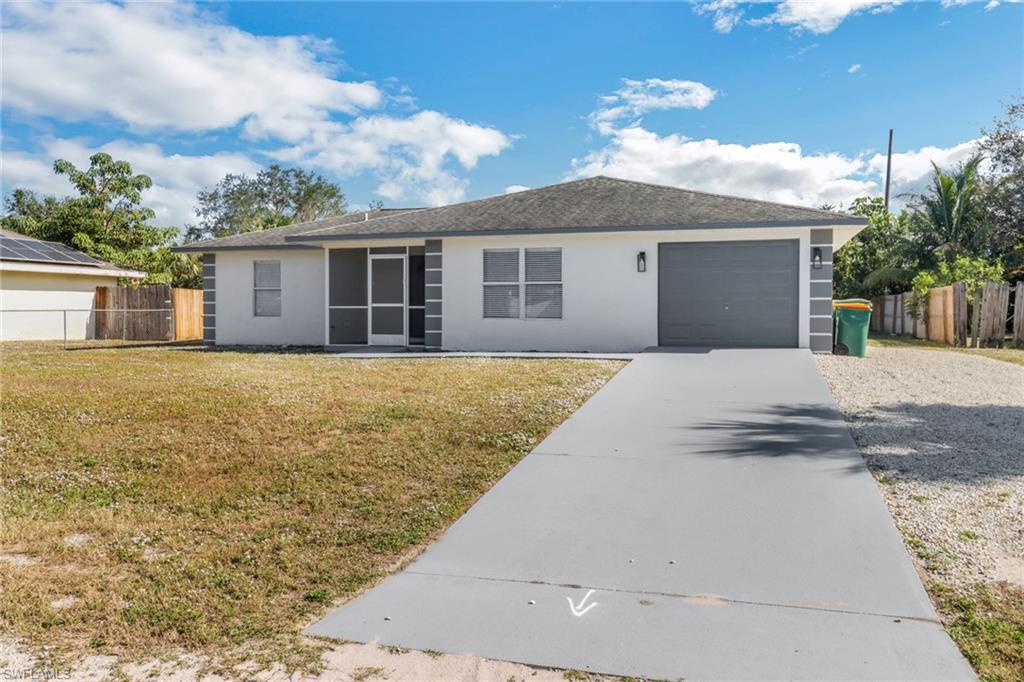
[[[990,257],[1001,258],[1009,281],[1024,280],[1024,97],[1006,104],[1004,119],[982,130],[978,148],[987,156],[982,200],[990,226]]]

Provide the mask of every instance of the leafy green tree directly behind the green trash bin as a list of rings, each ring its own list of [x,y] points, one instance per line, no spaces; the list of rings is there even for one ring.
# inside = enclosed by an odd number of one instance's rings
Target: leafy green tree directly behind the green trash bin
[[[867,218],[867,226],[833,256],[837,298],[869,298],[890,293],[913,276],[905,261],[907,219],[886,211],[881,198],[861,197],[850,213]]]

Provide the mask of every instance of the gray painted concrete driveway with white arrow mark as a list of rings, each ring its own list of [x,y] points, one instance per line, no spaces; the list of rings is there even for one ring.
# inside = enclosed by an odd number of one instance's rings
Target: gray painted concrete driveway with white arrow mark
[[[804,350],[641,354],[307,632],[648,678],[974,677]]]

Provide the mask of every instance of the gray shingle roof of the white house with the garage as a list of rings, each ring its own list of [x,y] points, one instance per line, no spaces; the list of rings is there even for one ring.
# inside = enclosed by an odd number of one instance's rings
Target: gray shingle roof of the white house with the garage
[[[867,223],[865,218],[831,211],[604,176],[431,209],[374,211],[369,218],[348,214],[198,242],[178,250],[301,247],[367,238]]]

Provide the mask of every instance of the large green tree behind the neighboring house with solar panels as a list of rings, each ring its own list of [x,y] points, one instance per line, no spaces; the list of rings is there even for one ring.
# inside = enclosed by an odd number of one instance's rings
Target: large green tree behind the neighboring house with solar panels
[[[115,161],[102,153],[92,155],[85,170],[57,159],[53,171],[67,176],[78,196],[40,198],[27,189],[14,189],[7,198],[0,224],[29,237],[67,244],[100,260],[144,270],[150,284],[198,284],[196,259],[169,249],[177,228],[150,224],[156,213],[142,205],[142,193],[153,186],[150,176],[136,175],[127,161]]]

